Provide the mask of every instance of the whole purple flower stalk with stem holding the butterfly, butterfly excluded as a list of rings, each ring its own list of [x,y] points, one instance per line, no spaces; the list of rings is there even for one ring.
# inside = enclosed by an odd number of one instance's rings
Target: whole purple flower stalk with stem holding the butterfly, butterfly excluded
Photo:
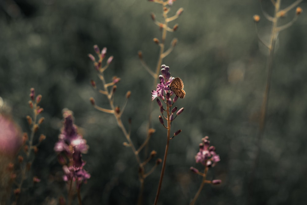
[[[161,175],[160,175],[160,180],[159,180],[159,184],[158,184],[158,189],[157,189],[157,194],[156,194],[156,198],[155,198],[155,201],[154,201],[154,205],[156,205],[158,203],[158,199],[159,199],[159,195],[160,195],[160,191],[161,191],[163,176],[164,176],[165,167],[166,167],[166,159],[167,159],[167,154],[168,154],[168,150],[169,150],[169,141],[171,139],[173,139],[174,136],[177,136],[181,132],[181,130],[176,131],[174,133],[173,137],[171,138],[171,135],[170,135],[171,122],[175,119],[175,117],[173,117],[174,116],[173,112],[175,112],[177,110],[177,107],[172,108],[172,106],[177,101],[178,96],[176,96],[169,88],[172,81],[175,79],[174,77],[170,76],[169,67],[166,66],[166,65],[162,65],[161,66],[161,73],[162,73],[162,75],[159,75],[160,83],[157,84],[157,89],[153,90],[151,92],[151,95],[152,95],[152,101],[157,98],[157,104],[160,107],[160,111],[161,111],[162,116],[163,116],[163,117],[159,116],[159,121],[164,126],[164,128],[167,129],[167,140],[166,140],[166,147],[165,147],[165,153],[164,153],[164,158],[163,158],[162,170],[161,170]],[[175,97],[172,100],[171,96],[173,96],[173,95],[175,95]],[[166,110],[164,110],[163,104],[161,103],[159,98],[162,100],[162,102],[165,103]],[[164,115],[164,111],[166,111],[166,117]],[[183,111],[183,108],[180,109],[180,112],[179,111],[177,112],[176,117],[182,111]],[[164,124],[163,118],[165,120],[167,120],[166,126]]]

